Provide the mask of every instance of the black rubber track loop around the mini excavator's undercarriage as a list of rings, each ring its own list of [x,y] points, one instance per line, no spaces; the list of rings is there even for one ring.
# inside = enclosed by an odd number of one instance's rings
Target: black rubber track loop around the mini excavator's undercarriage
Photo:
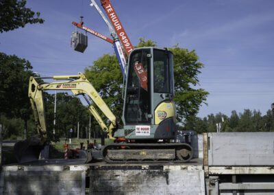
[[[182,146],[187,146],[188,148],[190,148],[191,150],[191,155],[189,159],[186,160],[179,160],[179,159],[173,159],[173,160],[153,160],[151,159],[151,161],[148,160],[138,160],[136,159],[134,160],[124,160],[124,161],[119,161],[119,160],[111,160],[111,159],[106,159],[105,156],[108,152],[108,148],[116,148],[116,147],[121,147],[121,146],[129,146],[131,149],[137,149],[140,148],[141,149],[173,149],[173,148],[180,148]],[[187,163],[188,161],[190,161],[193,157],[193,149],[189,144],[186,143],[161,143],[161,144],[133,144],[133,143],[118,143],[118,144],[108,144],[105,146],[105,148],[103,148],[102,151],[103,154],[103,159],[105,160],[105,162],[107,163]]]

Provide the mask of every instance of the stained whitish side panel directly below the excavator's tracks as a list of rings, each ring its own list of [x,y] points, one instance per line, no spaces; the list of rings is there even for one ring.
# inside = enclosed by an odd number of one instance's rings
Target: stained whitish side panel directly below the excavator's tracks
[[[90,194],[205,194],[202,165],[104,165],[90,170]]]

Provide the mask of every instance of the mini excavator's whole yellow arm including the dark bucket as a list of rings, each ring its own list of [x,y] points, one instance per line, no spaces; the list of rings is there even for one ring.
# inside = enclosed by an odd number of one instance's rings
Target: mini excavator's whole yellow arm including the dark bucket
[[[29,100],[32,104],[32,109],[34,111],[34,118],[36,122],[36,128],[38,130],[38,135],[31,137],[25,141],[19,141],[15,146],[14,150],[16,153],[16,158],[19,163],[37,160],[42,150],[43,146],[47,141],[47,126],[45,121],[45,104],[43,101],[42,91],[47,90],[71,90],[74,95],[84,95],[84,98],[89,104],[89,111],[97,120],[99,126],[104,133],[108,133],[110,139],[112,137],[112,130],[116,128],[116,117],[110,111],[110,108],[100,97],[99,93],[92,86],[90,82],[86,79],[83,73],[78,73],[77,76],[53,76],[54,80],[69,80],[63,82],[51,82],[51,83],[41,83],[39,84],[34,77],[29,78]],[[86,95],[94,102],[97,107],[103,112],[105,117],[110,120],[110,126],[107,127],[101,119],[99,113],[90,102]],[[39,146],[39,147],[36,147]]]

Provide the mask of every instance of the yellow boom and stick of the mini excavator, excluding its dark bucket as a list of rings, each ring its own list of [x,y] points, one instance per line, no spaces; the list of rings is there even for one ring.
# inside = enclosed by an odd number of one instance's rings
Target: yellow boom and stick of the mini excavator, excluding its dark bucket
[[[98,108],[103,112],[105,117],[110,120],[111,125],[109,128],[105,125],[103,119],[101,119],[101,116],[99,115],[99,113],[97,113],[95,107],[92,106],[86,98],[89,104],[90,113],[92,113],[92,115],[95,117],[102,130],[105,133],[108,133],[110,139],[114,139],[112,137],[112,130],[116,127],[116,117],[114,116],[112,111],[110,111],[110,108],[107,104],[105,104],[96,89],[92,86],[90,82],[88,82],[83,73],[79,73],[77,76],[53,76],[53,79],[69,81],[38,84],[34,77],[31,77],[29,79],[29,99],[32,102],[34,116],[36,117],[38,133],[46,133],[45,109],[42,100],[42,91],[71,90],[74,95],[88,95],[88,97],[98,106]]]

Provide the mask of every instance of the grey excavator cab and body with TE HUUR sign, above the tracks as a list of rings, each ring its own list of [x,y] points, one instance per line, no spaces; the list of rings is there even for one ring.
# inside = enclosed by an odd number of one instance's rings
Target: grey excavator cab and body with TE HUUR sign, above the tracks
[[[173,97],[173,53],[155,47],[132,51],[127,65],[124,129],[114,137],[175,139]]]

